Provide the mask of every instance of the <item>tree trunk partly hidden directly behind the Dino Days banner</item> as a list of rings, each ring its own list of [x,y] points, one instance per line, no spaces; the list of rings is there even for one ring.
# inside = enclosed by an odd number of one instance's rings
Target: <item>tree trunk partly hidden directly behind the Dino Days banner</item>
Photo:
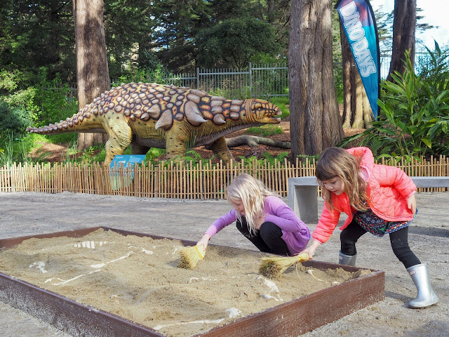
[[[369,128],[373,121],[373,111],[343,29],[340,29],[340,34],[342,36],[344,83],[343,127]]]

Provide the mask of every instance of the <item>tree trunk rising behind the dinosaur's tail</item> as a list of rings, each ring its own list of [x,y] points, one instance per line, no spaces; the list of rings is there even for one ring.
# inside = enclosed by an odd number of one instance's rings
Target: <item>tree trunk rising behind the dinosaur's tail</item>
[[[80,109],[111,88],[103,27],[104,7],[102,0],[73,1]],[[107,136],[102,133],[79,133],[76,148],[84,150],[106,140]]]

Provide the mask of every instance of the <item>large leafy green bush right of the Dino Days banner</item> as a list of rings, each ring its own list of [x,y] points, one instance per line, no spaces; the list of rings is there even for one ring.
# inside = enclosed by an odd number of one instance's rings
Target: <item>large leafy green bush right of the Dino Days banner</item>
[[[406,52],[404,74],[395,72],[394,82],[382,84],[384,94],[377,102],[383,114],[372,128],[345,138],[340,145],[357,141],[377,155],[393,157],[449,154],[449,55],[443,55],[438,44],[434,52],[428,52],[431,63],[420,76]]]

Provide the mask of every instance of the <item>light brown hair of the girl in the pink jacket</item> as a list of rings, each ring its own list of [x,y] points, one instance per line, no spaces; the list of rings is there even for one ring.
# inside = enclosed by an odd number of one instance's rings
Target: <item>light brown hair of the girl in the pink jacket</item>
[[[368,209],[366,181],[360,175],[360,161],[341,147],[329,147],[321,152],[316,163],[315,176],[321,186],[321,194],[328,208],[333,209],[332,192],[326,190],[323,181],[339,177],[344,183],[344,193],[349,204],[358,211]]]

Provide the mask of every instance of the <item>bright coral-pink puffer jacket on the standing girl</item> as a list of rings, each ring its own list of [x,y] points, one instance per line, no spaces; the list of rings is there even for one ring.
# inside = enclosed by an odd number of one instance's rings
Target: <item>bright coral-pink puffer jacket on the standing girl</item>
[[[373,152],[368,147],[353,147],[347,150],[356,157],[361,157],[361,173],[368,181],[369,206],[375,215],[388,221],[412,220],[414,214],[407,206],[407,199],[416,192],[415,183],[404,171],[394,166],[374,164]],[[323,207],[320,220],[312,237],[322,244],[328,241],[337,227],[340,213],[346,213],[348,218],[340,230],[351,223],[355,209],[349,204],[346,193],[331,196],[333,211],[326,204]]]

